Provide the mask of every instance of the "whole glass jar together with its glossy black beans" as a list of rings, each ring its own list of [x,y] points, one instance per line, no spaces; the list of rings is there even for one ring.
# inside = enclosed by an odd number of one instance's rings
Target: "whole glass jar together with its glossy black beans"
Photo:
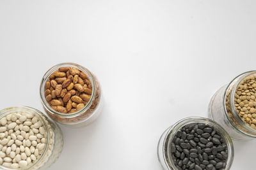
[[[164,170],[230,169],[234,148],[228,133],[216,122],[189,117],[164,131],[157,154]]]

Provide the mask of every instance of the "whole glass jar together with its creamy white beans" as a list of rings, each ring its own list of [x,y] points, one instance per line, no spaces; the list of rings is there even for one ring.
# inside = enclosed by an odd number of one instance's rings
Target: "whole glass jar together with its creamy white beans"
[[[26,106],[0,111],[0,169],[46,169],[62,148],[60,127],[40,111]]]

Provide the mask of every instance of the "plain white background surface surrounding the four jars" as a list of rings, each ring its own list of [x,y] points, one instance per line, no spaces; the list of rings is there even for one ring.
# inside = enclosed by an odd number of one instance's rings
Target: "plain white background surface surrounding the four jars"
[[[255,1],[0,1],[1,109],[43,110],[40,80],[76,62],[97,75],[102,115],[61,126],[51,170],[160,170],[157,141],[173,123],[207,117],[212,94],[256,68]],[[231,169],[255,169],[256,140],[234,142]]]

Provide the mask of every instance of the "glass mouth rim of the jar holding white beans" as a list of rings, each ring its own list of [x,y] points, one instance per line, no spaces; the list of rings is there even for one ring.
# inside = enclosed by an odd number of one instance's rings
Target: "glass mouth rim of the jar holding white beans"
[[[39,115],[38,113],[44,115],[44,113],[42,113],[41,111],[39,110],[36,110],[35,108],[31,108],[29,106],[15,106],[15,107],[10,107],[10,108],[5,108],[3,110],[0,110],[0,118],[5,116],[5,115],[8,115],[10,113],[15,113],[17,111],[20,111],[20,112],[24,112],[24,113],[31,113],[33,115],[36,115],[36,117],[42,121],[43,125],[44,125],[44,128],[45,128],[45,134],[46,134],[46,142],[45,142],[45,148],[44,148],[44,152],[42,152],[42,155],[40,155],[40,158],[36,160],[36,162],[33,162],[31,163],[31,166],[28,166],[26,167],[26,169],[33,169],[33,167],[36,166],[36,164],[38,162],[40,162],[44,157],[45,157],[45,154],[47,153],[47,150],[49,149],[49,141],[50,141],[50,138],[49,138],[49,128],[47,126],[47,123],[45,122],[44,118],[42,118],[41,115]],[[53,135],[53,134],[52,134]],[[54,144],[52,144],[54,145]],[[4,166],[0,166],[2,169],[10,169],[8,167],[4,167]],[[19,168],[19,170],[22,170],[22,168]]]

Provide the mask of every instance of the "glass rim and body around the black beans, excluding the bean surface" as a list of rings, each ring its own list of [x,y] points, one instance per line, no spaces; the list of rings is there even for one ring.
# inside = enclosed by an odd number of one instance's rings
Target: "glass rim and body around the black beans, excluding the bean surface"
[[[157,157],[158,160],[163,167],[164,170],[174,170],[177,169],[175,166],[175,162],[172,159],[172,153],[170,151],[171,144],[173,137],[181,129],[184,127],[184,125],[192,124],[192,123],[206,123],[209,125],[212,125],[216,130],[220,132],[220,134],[223,136],[223,139],[225,140],[225,143],[227,143],[227,149],[228,149],[228,159],[227,159],[227,165],[225,169],[230,169],[233,159],[234,159],[234,147],[232,140],[228,133],[216,122],[208,119],[208,118],[202,118],[202,117],[188,117],[180,120],[176,124],[172,125],[164,133],[162,134],[161,138],[159,139],[159,143],[157,146]]]

